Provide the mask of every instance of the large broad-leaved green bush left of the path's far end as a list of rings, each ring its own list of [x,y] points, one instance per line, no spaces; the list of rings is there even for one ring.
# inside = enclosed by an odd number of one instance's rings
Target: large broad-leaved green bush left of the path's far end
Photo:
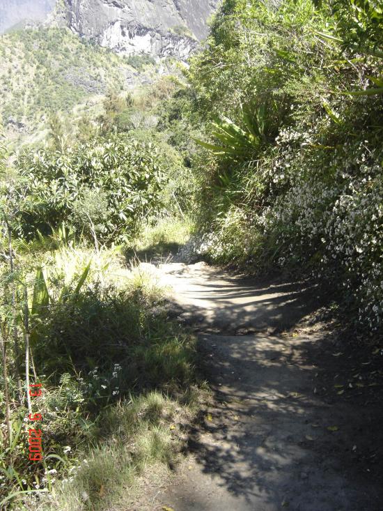
[[[37,230],[49,234],[72,218],[79,234],[120,241],[161,206],[164,174],[151,144],[93,139],[63,151],[28,153],[18,165],[26,190],[19,230],[27,237]]]

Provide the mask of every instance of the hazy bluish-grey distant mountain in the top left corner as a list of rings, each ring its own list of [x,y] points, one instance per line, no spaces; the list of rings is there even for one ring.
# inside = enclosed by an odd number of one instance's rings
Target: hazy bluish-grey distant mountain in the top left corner
[[[40,22],[55,0],[0,0],[0,33],[21,22]]]

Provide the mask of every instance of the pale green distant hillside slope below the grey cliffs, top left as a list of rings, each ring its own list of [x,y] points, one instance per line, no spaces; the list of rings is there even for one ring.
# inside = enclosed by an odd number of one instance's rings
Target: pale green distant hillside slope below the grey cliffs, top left
[[[41,130],[51,113],[72,112],[108,89],[150,81],[154,61],[137,70],[108,49],[81,40],[69,29],[28,29],[0,37],[0,115],[11,139]],[[134,65],[140,63],[136,57]],[[152,62],[152,64],[150,64]]]

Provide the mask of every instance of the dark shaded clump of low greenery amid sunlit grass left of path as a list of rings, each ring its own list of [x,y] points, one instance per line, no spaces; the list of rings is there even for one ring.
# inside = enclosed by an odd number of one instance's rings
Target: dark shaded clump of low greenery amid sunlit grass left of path
[[[86,392],[91,399],[117,399],[134,388],[161,388],[171,381],[183,384],[192,374],[192,350],[186,336],[169,335],[165,320],[139,287],[96,285],[52,302],[37,330],[36,362],[46,374],[63,374],[70,365],[77,374],[92,373],[97,381],[93,395]]]

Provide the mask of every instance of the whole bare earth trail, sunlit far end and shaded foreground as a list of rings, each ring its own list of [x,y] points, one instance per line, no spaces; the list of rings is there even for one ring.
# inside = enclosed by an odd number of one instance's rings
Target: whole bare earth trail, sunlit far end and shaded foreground
[[[315,288],[203,263],[159,268],[180,320],[198,331],[214,402],[173,482],[145,509],[382,511],[382,406],[355,386],[370,373],[348,386],[353,362],[338,369],[334,339],[291,330],[318,308]]]

